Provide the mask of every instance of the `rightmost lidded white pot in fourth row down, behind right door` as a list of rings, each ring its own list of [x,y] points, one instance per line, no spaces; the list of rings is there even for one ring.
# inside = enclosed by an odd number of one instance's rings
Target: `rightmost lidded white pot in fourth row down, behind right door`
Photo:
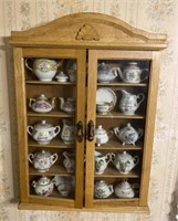
[[[139,162],[138,156],[132,156],[126,151],[122,154],[113,154],[114,160],[112,160],[116,169],[124,175],[127,175]]]

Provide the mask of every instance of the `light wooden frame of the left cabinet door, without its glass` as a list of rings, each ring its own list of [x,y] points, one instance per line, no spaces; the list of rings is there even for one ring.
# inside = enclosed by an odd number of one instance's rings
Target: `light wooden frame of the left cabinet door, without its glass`
[[[18,141],[20,160],[20,191],[22,203],[54,204],[59,207],[82,208],[84,189],[84,138],[81,143],[75,141],[75,199],[52,199],[38,198],[30,194],[29,160],[28,160],[28,117],[27,117],[27,92],[25,92],[25,57],[45,59],[75,59],[77,62],[76,77],[76,115],[75,124],[83,123],[85,128],[85,99],[86,99],[86,50],[71,49],[36,49],[36,48],[15,48],[14,49],[14,77],[15,77],[15,98],[18,117]],[[83,104],[83,105],[81,105]]]

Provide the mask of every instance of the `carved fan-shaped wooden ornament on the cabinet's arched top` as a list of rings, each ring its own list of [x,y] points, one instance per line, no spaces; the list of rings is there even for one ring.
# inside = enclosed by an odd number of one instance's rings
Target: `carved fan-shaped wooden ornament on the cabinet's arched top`
[[[97,31],[91,24],[84,24],[76,34],[76,40],[98,41]]]

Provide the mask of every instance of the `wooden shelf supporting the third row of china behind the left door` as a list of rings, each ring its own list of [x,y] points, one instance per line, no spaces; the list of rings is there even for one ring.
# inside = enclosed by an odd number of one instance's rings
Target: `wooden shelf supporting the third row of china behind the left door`
[[[53,139],[49,145],[39,145],[36,141],[34,141],[33,139],[29,139],[29,147],[38,147],[38,148],[74,148],[74,145],[65,145],[62,140],[60,139]]]

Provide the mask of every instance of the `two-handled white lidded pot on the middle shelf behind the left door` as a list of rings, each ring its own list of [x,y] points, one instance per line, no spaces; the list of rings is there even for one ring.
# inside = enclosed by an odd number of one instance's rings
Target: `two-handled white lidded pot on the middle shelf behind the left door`
[[[53,127],[51,124],[42,120],[34,126],[28,126],[27,130],[40,145],[46,145],[60,133],[61,128],[60,126]]]

